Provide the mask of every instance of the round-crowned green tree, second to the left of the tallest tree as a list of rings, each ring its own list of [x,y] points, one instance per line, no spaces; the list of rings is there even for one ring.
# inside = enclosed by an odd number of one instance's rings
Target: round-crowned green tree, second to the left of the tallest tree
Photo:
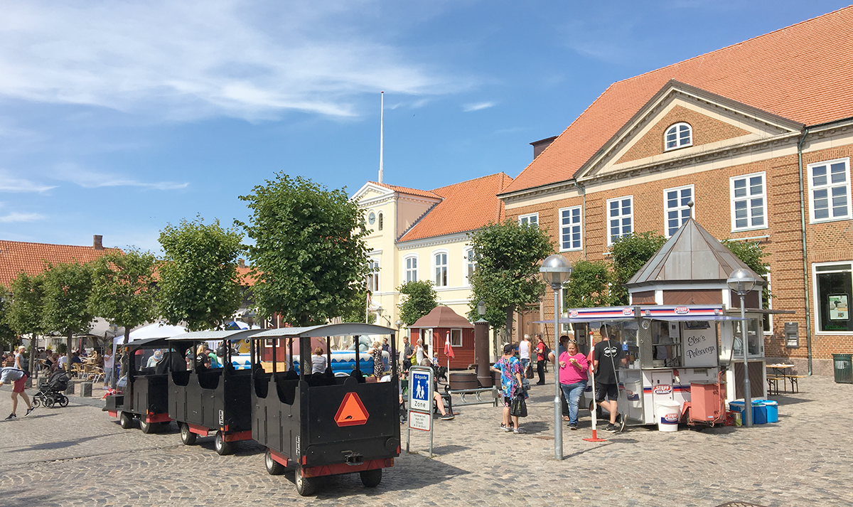
[[[156,316],[154,312],[154,254],[129,250],[126,254],[103,255],[91,263],[91,312],[116,326],[125,328],[125,345],[131,329]],[[121,376],[128,363],[121,364]],[[115,377],[113,376],[113,387]]]

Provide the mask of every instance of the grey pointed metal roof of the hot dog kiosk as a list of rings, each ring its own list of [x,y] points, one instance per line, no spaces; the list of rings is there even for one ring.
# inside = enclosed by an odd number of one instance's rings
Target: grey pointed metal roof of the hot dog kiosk
[[[652,259],[626,283],[627,287],[658,283],[726,283],[739,268],[750,272],[763,285],[764,279],[732,254],[695,220],[688,219]]]

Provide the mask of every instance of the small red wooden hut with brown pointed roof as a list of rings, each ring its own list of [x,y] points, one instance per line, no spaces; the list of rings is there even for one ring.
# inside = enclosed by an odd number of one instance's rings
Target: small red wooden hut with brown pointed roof
[[[444,355],[444,341],[450,333],[450,346],[454,357],[450,358],[450,370],[467,370],[474,363],[474,325],[447,306],[436,306],[432,312],[419,318],[409,326],[413,341],[423,335],[423,329],[432,331],[432,353],[438,358],[438,364],[447,364]]]

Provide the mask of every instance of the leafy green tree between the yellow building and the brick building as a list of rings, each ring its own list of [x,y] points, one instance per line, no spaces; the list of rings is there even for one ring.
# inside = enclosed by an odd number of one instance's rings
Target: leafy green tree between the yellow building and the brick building
[[[539,266],[554,247],[545,230],[514,219],[488,224],[469,233],[468,238],[477,259],[477,268],[469,277],[473,292],[469,318],[479,318],[477,303],[483,300],[485,320],[503,329],[508,340],[513,312],[542,297],[545,283]]]

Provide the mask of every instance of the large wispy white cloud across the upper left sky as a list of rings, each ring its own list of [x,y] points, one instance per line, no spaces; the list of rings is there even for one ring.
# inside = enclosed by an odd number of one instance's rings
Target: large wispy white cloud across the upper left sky
[[[357,114],[356,94],[465,88],[351,26],[362,3],[3,3],[0,96],[171,119]],[[252,17],[254,16],[254,17]],[[451,83],[452,81],[452,83]]]

